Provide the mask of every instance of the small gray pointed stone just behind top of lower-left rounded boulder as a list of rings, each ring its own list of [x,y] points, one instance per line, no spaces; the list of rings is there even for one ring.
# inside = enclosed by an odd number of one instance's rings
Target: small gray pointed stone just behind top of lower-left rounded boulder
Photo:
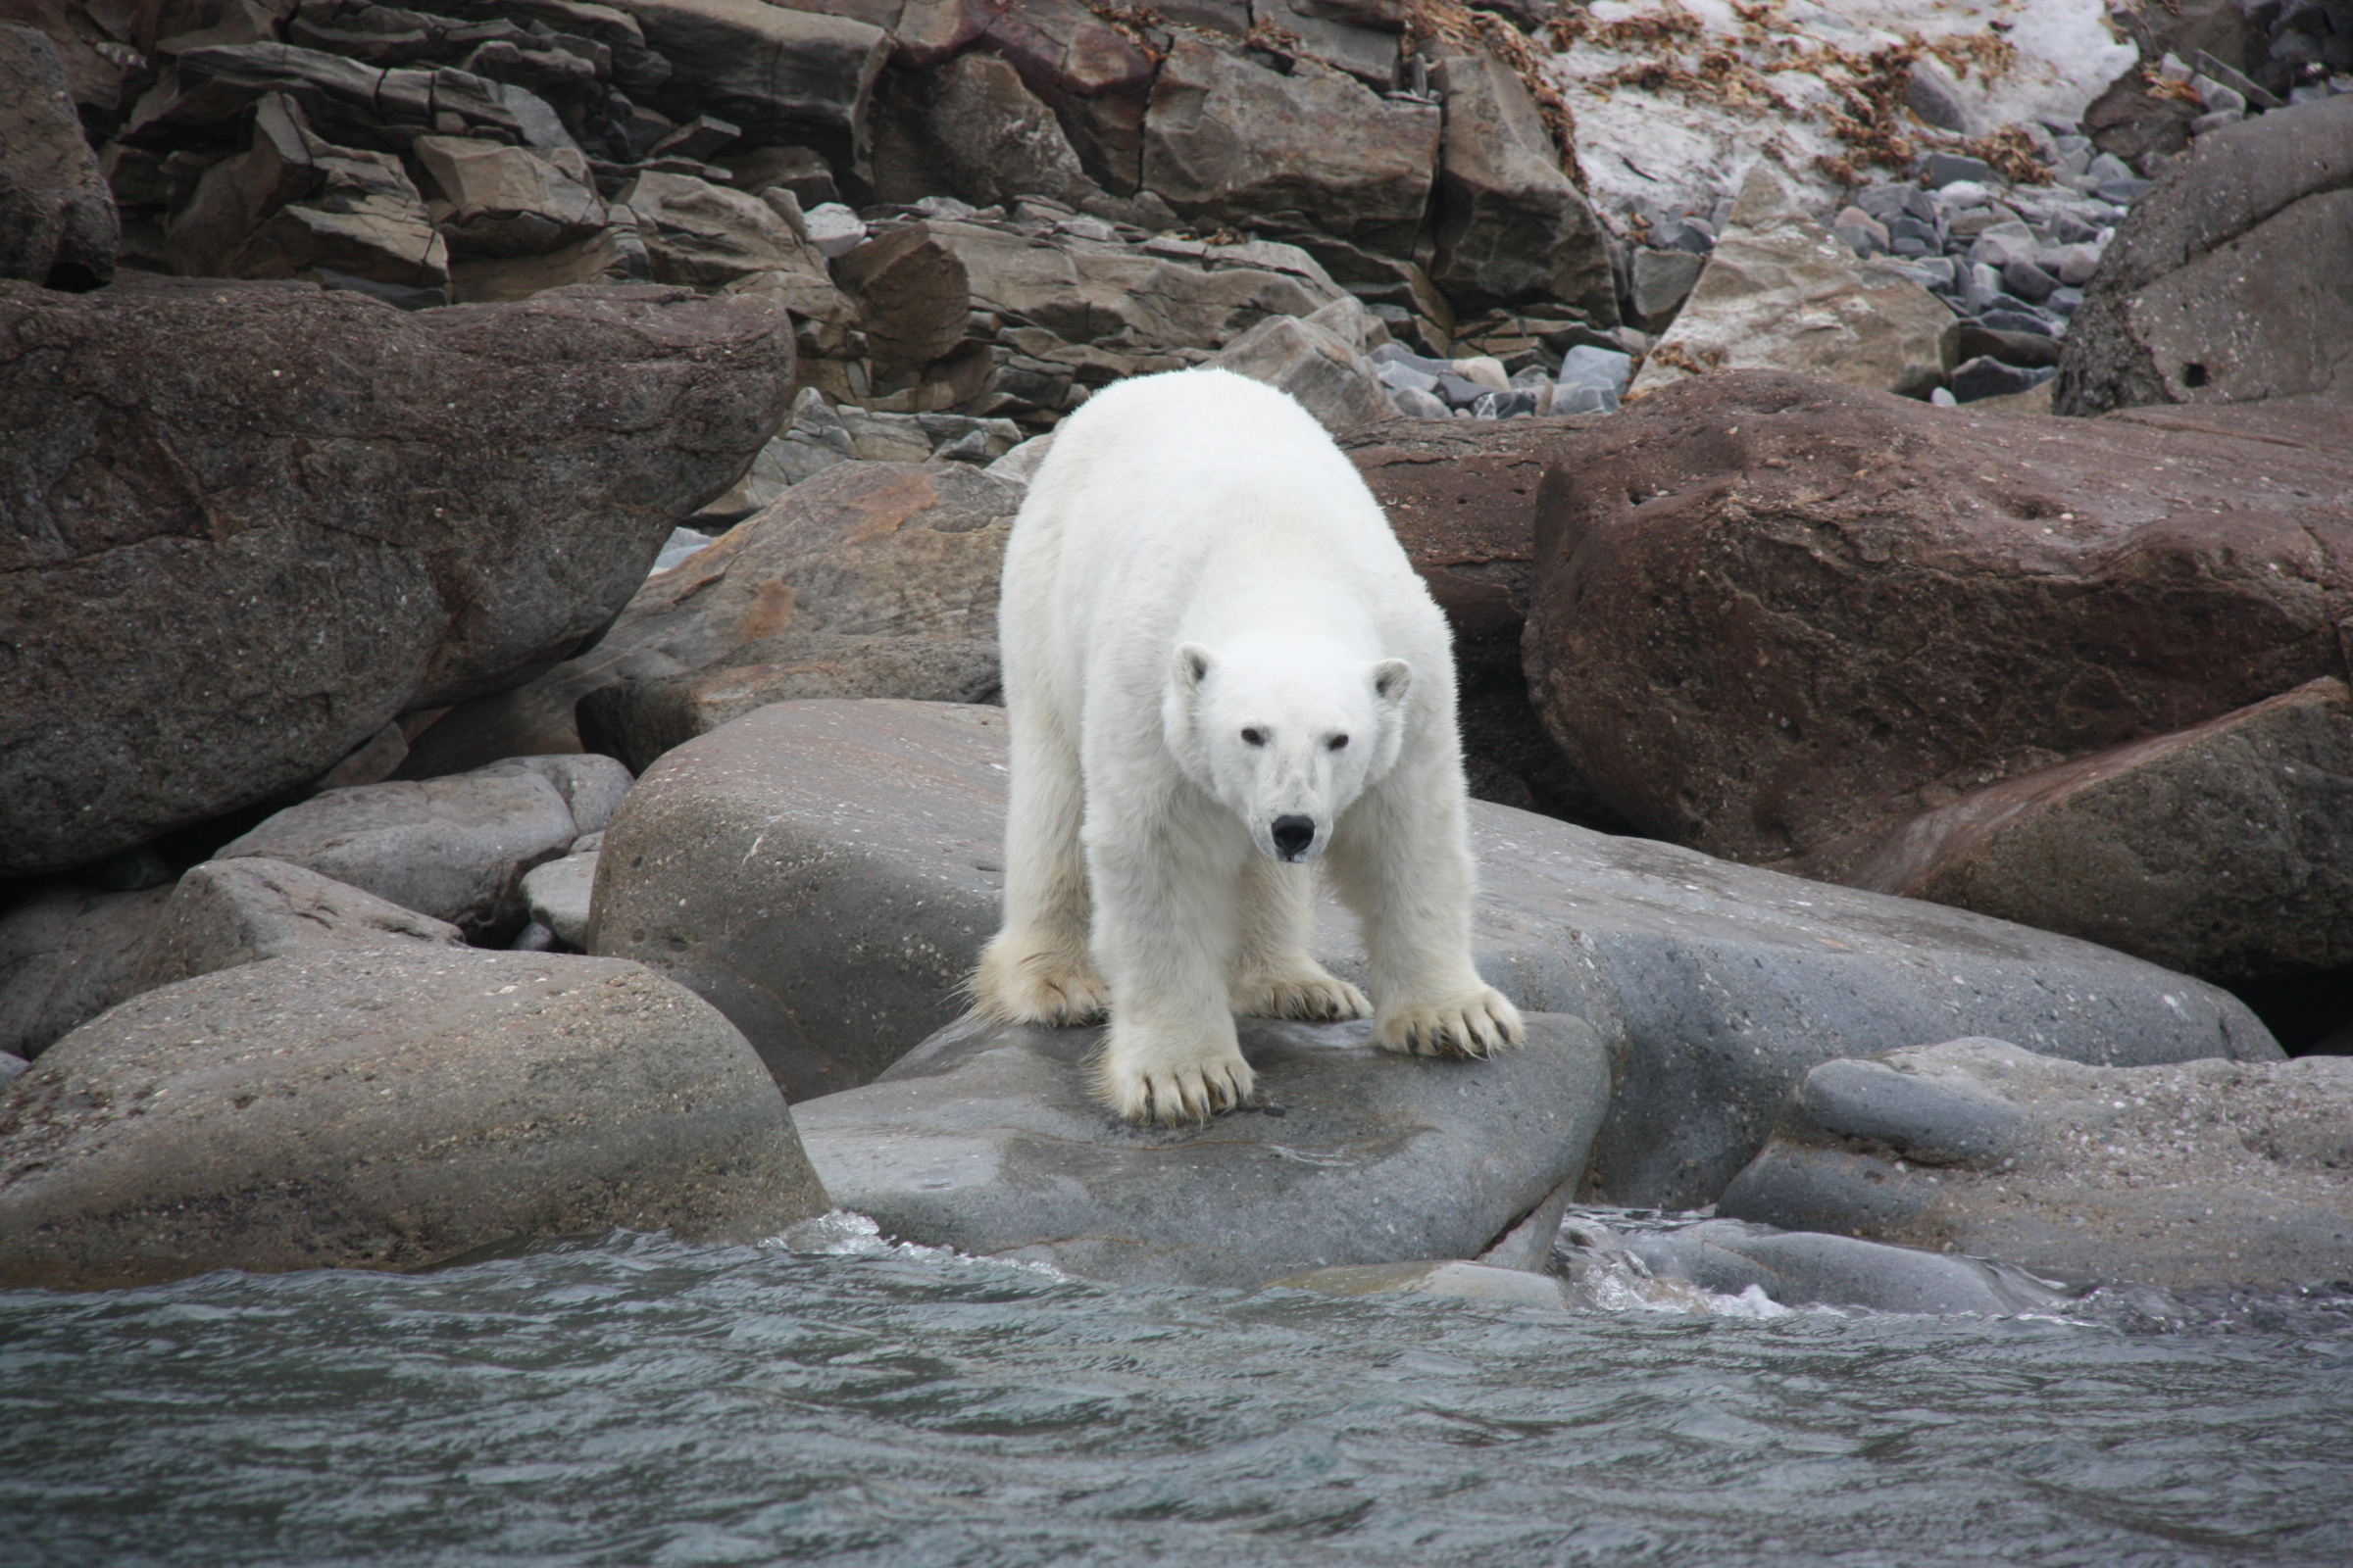
[[[151,992],[266,959],[464,943],[466,936],[447,922],[287,860],[205,860],[155,912],[134,990]]]

